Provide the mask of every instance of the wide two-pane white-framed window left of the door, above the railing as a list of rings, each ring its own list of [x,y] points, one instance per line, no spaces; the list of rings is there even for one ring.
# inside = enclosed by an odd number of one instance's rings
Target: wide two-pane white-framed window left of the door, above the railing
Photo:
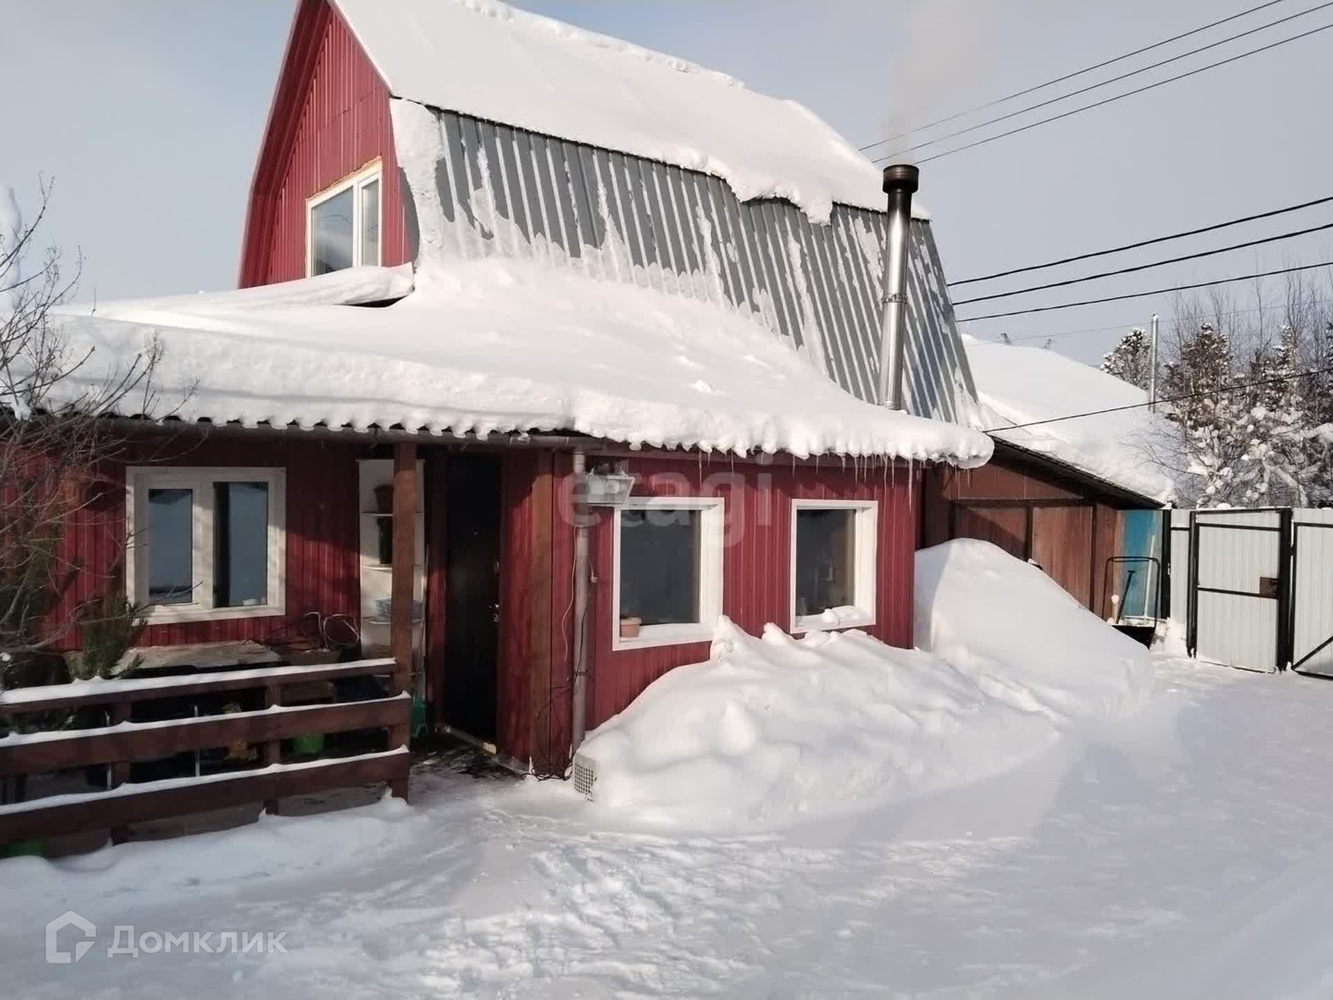
[[[284,611],[285,472],[132,468],[125,591],[149,621]]]

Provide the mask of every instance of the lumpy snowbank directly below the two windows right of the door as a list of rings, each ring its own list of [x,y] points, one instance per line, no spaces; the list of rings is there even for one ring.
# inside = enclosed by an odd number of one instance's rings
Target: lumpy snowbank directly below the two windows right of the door
[[[724,620],[708,663],[653,683],[580,756],[600,805],[746,829],[966,784],[1054,737],[936,656],[864,632],[756,639]]]

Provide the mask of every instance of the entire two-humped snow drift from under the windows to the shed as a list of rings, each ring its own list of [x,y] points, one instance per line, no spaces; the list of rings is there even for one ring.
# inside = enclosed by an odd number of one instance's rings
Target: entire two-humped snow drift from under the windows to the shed
[[[708,663],[584,743],[595,800],[649,823],[782,825],[996,775],[1146,697],[1146,651],[1034,567],[972,541],[917,564],[932,651],[858,631],[754,637],[724,619]]]

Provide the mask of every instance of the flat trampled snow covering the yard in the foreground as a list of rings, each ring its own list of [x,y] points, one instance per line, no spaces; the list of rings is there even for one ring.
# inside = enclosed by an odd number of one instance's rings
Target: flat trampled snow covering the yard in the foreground
[[[1326,996],[1333,685],[1158,659],[1148,707],[933,797],[663,833],[568,785],[0,863],[9,996]],[[43,925],[97,924],[48,965]],[[287,953],[107,956],[116,924]]]

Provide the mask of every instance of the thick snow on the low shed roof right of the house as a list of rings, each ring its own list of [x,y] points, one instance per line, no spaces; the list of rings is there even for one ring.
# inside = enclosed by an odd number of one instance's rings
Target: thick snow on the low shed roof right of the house
[[[1054,351],[969,336],[964,343],[986,429],[1148,401],[1142,389]],[[1148,500],[1166,503],[1176,487],[1148,449],[1166,431],[1162,417],[1140,408],[994,436]]]

